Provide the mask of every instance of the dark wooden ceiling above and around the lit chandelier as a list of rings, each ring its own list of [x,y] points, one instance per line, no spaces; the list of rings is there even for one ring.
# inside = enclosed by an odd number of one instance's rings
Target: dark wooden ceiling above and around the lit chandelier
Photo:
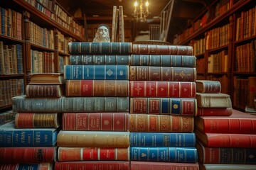
[[[113,6],[123,6],[126,20],[134,21],[132,12],[134,11],[135,0],[57,0],[73,16],[78,15],[78,11],[85,14],[87,23],[92,21],[104,21],[112,19]],[[140,0],[137,0],[138,2]],[[161,16],[161,11],[170,0],[148,0],[149,16],[147,24],[154,21],[154,16]],[[214,0],[174,0],[174,8],[169,26],[169,36],[173,37],[186,28],[188,23],[193,21],[209,4]],[[78,10],[80,9],[80,10]],[[92,17],[97,15],[97,18]],[[82,17],[80,16],[80,17]],[[135,22],[135,21],[134,21]],[[145,23],[146,24],[146,23]],[[144,24],[144,25],[145,25]],[[135,30],[136,31],[136,30]],[[169,40],[167,40],[169,41]]]

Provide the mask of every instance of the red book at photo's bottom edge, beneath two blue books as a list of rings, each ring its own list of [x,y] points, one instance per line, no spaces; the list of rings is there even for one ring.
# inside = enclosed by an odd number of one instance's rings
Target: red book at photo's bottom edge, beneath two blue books
[[[199,170],[198,163],[174,163],[174,162],[131,162],[130,170]]]

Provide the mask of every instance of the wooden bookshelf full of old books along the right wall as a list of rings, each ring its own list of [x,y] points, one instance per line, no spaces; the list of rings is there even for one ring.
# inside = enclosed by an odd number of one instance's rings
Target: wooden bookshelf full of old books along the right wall
[[[253,93],[248,79],[256,77],[255,8],[252,0],[215,0],[173,39],[175,45],[193,46],[197,79],[220,81],[240,111]]]

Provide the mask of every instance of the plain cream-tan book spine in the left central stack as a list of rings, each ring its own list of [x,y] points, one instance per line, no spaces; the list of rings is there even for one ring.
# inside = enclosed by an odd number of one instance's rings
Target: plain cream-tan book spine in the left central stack
[[[129,132],[80,132],[58,133],[58,147],[129,147]]]

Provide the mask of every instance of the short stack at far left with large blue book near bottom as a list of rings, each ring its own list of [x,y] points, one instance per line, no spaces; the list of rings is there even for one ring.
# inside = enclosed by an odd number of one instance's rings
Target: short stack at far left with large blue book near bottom
[[[63,74],[31,74],[26,95],[13,98],[14,103],[22,104],[20,108],[14,104],[14,121],[0,126],[2,169],[53,169],[61,113],[41,111],[43,106],[33,105],[33,101],[60,98],[64,83]]]

